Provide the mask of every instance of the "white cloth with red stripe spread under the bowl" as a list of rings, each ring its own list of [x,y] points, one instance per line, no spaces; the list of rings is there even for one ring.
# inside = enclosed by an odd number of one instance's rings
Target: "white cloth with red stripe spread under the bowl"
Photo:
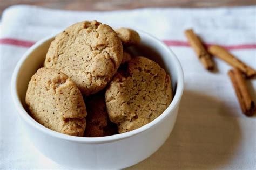
[[[227,76],[231,67],[214,59],[218,72],[207,72],[184,36],[184,30],[193,27],[205,42],[224,45],[255,69],[255,6],[77,12],[18,5],[2,16],[0,169],[68,169],[44,157],[26,138],[11,100],[10,80],[17,61],[33,42],[75,22],[94,19],[165,40],[184,69],[185,91],[171,136],[150,158],[131,169],[256,168],[256,116],[241,113]],[[255,100],[255,79],[248,86]]]

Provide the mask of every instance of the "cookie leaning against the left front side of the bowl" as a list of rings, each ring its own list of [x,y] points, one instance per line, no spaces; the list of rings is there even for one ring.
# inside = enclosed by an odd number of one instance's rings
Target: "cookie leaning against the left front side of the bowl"
[[[41,68],[32,76],[26,91],[30,115],[51,130],[83,136],[86,108],[76,84],[59,70]]]

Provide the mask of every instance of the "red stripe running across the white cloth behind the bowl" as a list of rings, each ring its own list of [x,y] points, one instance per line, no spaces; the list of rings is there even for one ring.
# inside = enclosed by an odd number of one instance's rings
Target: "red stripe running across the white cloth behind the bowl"
[[[190,44],[186,41],[176,41],[176,40],[164,40],[164,43],[167,46],[176,46],[176,47],[190,47]],[[0,39],[0,44],[8,44],[20,47],[31,47],[35,42],[19,40],[14,38],[2,38]],[[213,44],[205,44],[206,46],[210,46]],[[256,49],[256,44],[239,44],[239,45],[221,45],[228,50],[232,49]]]

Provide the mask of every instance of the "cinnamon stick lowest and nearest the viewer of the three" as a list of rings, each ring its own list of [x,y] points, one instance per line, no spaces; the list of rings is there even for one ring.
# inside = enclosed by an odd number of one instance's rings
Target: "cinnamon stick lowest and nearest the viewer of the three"
[[[245,79],[239,69],[234,68],[228,72],[231,82],[233,84],[235,94],[237,94],[238,101],[242,112],[247,116],[252,116],[255,113],[255,105],[252,97],[246,87]]]

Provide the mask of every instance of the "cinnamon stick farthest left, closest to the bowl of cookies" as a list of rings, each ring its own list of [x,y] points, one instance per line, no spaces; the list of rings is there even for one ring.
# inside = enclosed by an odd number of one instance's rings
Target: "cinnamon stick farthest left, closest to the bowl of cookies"
[[[192,29],[186,30],[185,35],[188,39],[188,42],[190,42],[191,47],[194,49],[194,52],[196,52],[199,60],[203,63],[204,67],[207,70],[213,70],[214,62],[198,36],[194,34]]]

